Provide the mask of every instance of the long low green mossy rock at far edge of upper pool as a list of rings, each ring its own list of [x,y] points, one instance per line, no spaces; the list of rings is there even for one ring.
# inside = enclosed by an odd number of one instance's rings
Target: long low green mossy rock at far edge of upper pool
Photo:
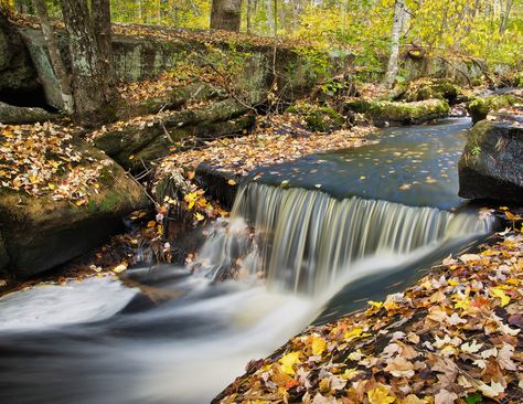
[[[446,117],[450,107],[444,99],[427,99],[416,103],[372,102],[367,114],[376,126],[419,125]]]

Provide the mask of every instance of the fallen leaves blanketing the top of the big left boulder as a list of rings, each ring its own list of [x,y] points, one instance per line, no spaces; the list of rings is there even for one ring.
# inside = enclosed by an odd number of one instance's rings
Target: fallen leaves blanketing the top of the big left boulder
[[[88,203],[109,160],[84,156],[73,129],[52,123],[0,124],[0,188],[55,201]]]

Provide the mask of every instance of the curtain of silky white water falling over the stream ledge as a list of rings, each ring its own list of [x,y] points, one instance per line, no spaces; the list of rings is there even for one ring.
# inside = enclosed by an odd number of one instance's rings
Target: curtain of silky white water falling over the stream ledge
[[[211,234],[196,266],[212,278],[262,274],[269,288],[314,294],[356,262],[404,257],[487,233],[490,226],[491,220],[471,212],[338,200],[320,191],[252,182],[239,190],[230,222]]]

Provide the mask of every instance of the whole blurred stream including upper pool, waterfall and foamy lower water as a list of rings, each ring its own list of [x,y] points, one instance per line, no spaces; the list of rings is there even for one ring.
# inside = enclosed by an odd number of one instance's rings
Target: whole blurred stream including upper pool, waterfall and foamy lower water
[[[129,273],[152,296],[95,278],[1,298],[1,402],[206,403],[314,319],[405,287],[490,231],[474,210],[442,210],[461,203],[450,166],[468,125],[385,130],[394,151],[376,164],[371,146],[263,170],[191,267]]]

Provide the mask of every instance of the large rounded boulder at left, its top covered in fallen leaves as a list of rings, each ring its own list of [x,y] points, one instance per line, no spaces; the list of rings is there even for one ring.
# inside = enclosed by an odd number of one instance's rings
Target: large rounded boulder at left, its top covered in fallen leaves
[[[28,277],[79,256],[148,204],[120,166],[65,129],[1,129],[0,266],[9,258],[11,275]]]

